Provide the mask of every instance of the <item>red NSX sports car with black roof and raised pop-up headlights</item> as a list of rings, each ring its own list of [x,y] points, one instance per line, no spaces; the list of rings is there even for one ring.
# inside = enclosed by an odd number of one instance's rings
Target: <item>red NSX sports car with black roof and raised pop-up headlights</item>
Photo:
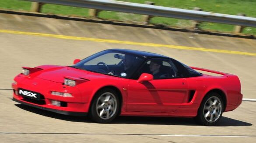
[[[118,115],[169,116],[213,126],[242,103],[238,76],[124,49],[76,59],[73,66],[23,67],[12,88],[14,101],[65,115],[88,114],[98,123]]]

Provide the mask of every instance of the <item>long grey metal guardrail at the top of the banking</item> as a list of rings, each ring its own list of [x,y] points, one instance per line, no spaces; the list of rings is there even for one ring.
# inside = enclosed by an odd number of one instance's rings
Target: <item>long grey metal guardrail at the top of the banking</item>
[[[211,13],[196,10],[185,10],[171,7],[155,6],[154,4],[128,3],[116,0],[27,0],[42,3],[60,4],[73,7],[84,7],[97,10],[117,11],[124,13],[137,13],[150,17],[170,17],[185,20],[224,23],[246,27],[256,27],[256,18],[221,13]],[[40,4],[41,3],[41,4]]]

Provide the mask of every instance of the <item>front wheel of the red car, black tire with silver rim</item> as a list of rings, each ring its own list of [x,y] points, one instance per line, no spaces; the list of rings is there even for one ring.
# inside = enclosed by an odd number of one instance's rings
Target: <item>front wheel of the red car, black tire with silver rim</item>
[[[97,123],[109,123],[118,115],[119,109],[120,103],[116,91],[105,88],[95,94],[89,116]]]

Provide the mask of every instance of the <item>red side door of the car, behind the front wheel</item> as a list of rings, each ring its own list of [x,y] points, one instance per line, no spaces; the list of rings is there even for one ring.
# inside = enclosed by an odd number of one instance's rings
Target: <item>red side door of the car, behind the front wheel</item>
[[[151,59],[152,60],[152,59]],[[149,66],[151,60],[144,64]],[[163,60],[161,66],[169,74],[175,73],[175,66],[171,61]],[[150,73],[150,71],[145,71]],[[161,79],[144,81],[130,80],[127,89],[128,97],[126,110],[136,112],[174,112],[179,104],[186,102],[188,96],[188,85],[185,78],[177,78],[175,75],[168,75]]]

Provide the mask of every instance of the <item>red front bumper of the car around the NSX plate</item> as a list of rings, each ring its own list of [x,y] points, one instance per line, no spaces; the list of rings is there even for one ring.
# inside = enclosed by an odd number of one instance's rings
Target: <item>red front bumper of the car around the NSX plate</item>
[[[64,115],[85,116],[88,113],[90,104],[84,101],[82,98],[84,96],[81,96],[77,87],[66,87],[62,85],[62,83],[22,76],[17,76],[15,81],[17,82],[12,83],[12,88],[14,90],[13,100],[18,103]],[[18,93],[18,89],[40,93],[40,100],[22,96]],[[52,95],[51,91],[71,93],[72,97]],[[61,106],[53,105],[52,100],[60,101]]]

